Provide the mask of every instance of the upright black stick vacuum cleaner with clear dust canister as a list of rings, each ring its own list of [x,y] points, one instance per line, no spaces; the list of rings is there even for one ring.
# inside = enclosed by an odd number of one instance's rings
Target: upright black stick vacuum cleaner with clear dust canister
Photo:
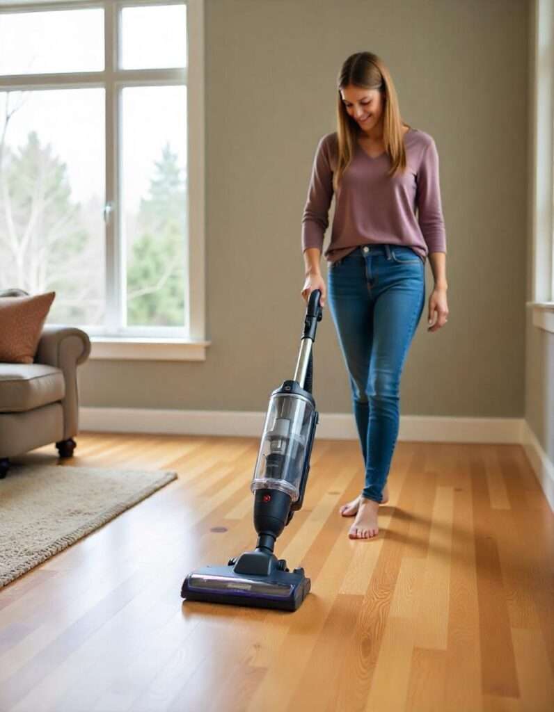
[[[229,560],[205,566],[185,578],[181,597],[188,601],[295,611],[309,593],[302,567],[292,572],[274,553],[275,541],[302,508],[319,414],[312,396],[317,323],[322,320],[321,291],[309,295],[296,371],[270,397],[250,490],[254,494],[257,544]]]

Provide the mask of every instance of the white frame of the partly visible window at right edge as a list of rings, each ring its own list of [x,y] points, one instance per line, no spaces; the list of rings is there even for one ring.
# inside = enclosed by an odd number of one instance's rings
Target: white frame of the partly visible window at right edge
[[[530,127],[533,325],[554,333],[554,0],[534,0]]]

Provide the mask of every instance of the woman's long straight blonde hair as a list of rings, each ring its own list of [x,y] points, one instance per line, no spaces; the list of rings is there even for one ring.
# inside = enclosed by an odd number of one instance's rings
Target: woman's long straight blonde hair
[[[349,166],[358,136],[361,133],[359,125],[348,115],[342,101],[341,90],[349,84],[369,90],[379,90],[384,100],[383,143],[386,153],[391,159],[389,177],[397,171],[406,170],[406,150],[404,149],[404,124],[400,117],[400,109],[396,89],[384,62],[372,52],[356,52],[344,61],[337,80],[337,136],[339,140],[337,169],[333,175],[333,187],[337,191],[342,174]],[[411,128],[411,127],[410,127]]]

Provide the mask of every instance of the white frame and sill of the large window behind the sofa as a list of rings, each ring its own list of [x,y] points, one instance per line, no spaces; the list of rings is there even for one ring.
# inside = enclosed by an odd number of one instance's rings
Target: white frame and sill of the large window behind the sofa
[[[185,4],[187,68],[118,69],[121,11],[125,7]],[[104,9],[105,68],[101,72],[0,75],[0,90],[97,88],[106,90],[106,309],[108,322],[87,327],[91,358],[205,360],[205,161],[204,0],[19,0],[0,5],[0,14],[83,8]],[[122,305],[123,241],[120,199],[121,95],[128,86],[185,85],[188,88],[188,328],[118,328]]]

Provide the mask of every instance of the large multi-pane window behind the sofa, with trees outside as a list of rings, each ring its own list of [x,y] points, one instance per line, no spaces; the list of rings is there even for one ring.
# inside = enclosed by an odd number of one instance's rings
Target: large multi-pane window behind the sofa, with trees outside
[[[0,288],[93,357],[203,357],[201,36],[202,0],[0,6]]]

